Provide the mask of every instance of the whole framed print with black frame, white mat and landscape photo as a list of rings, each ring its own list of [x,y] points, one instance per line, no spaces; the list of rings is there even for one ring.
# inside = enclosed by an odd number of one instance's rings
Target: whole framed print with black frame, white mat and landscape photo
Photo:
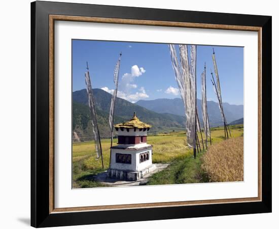
[[[31,3],[31,225],[271,212],[271,17]]]

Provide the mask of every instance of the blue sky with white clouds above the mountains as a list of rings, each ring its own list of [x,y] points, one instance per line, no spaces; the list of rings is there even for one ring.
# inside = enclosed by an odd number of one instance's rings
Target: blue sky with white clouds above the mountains
[[[73,40],[73,91],[85,88],[86,61],[92,88],[112,93],[113,71],[122,52],[118,97],[130,102],[180,98],[167,44]],[[188,47],[190,49],[190,47]],[[243,47],[197,45],[197,98],[200,75],[206,62],[207,100],[218,101],[211,83],[212,48],[215,49],[222,100],[243,104]]]

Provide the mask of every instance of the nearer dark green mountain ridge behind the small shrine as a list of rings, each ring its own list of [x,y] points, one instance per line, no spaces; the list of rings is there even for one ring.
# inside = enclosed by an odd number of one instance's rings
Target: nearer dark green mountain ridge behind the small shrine
[[[93,89],[93,97],[100,135],[102,137],[109,137],[110,129],[108,120],[112,95],[101,89]],[[73,130],[79,136],[92,135],[92,129],[90,129],[90,113],[87,104],[88,98],[85,89],[73,92]],[[151,132],[162,131],[168,128],[185,127],[185,119],[183,116],[170,113],[157,113],[121,98],[116,98],[114,123],[130,120],[134,111],[141,121],[152,125]]]

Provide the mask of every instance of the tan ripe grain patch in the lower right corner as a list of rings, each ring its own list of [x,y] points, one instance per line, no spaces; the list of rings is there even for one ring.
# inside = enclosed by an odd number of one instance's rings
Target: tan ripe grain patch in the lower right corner
[[[243,181],[243,137],[213,145],[202,160],[210,182]]]

